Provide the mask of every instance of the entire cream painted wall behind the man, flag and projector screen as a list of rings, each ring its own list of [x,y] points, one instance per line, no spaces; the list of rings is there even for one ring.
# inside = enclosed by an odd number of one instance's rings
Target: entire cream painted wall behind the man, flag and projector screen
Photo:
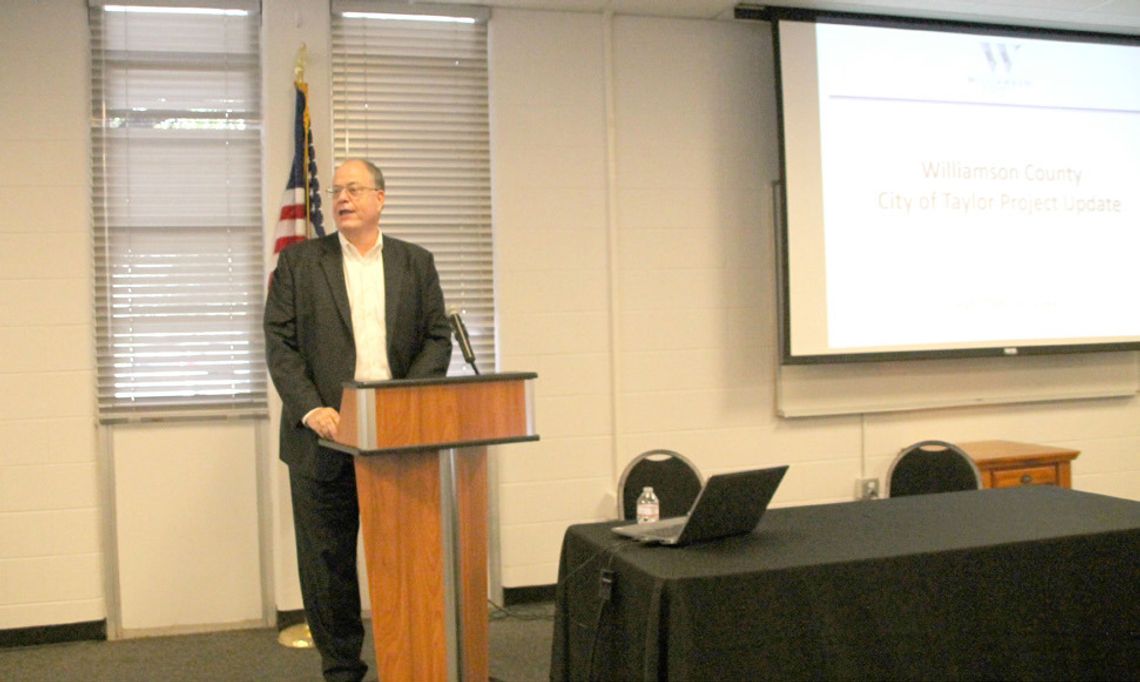
[[[0,628],[107,612],[83,5],[7,0],[0,22]],[[327,35],[325,0],[263,0],[267,253],[302,41],[320,174],[332,174]],[[856,478],[881,477],[898,447],[921,438],[1029,440],[1083,452],[1074,487],[1140,500],[1134,397],[775,415],[769,42],[766,26],[747,23],[494,13],[500,366],[539,373],[543,437],[496,448],[507,587],[553,583],[564,528],[610,517],[618,472],[651,447],[684,452],[706,474],[790,463],[776,501],[788,505],[850,500]],[[182,456],[168,468],[150,453],[170,443]],[[261,519],[272,545],[269,608],[300,608],[276,414],[220,431],[132,427],[113,446],[116,506],[130,512],[114,563],[131,582],[120,595],[127,625],[223,625],[256,610],[259,465],[272,502]],[[195,453],[206,455],[181,470]],[[230,465],[237,473],[222,477]],[[179,496],[154,519],[137,517],[153,509],[154,481],[176,473]],[[223,509],[236,510],[228,527]],[[163,544],[180,534],[202,563],[193,608],[146,577],[185,560],[185,547]],[[230,553],[239,579],[203,586]]]

